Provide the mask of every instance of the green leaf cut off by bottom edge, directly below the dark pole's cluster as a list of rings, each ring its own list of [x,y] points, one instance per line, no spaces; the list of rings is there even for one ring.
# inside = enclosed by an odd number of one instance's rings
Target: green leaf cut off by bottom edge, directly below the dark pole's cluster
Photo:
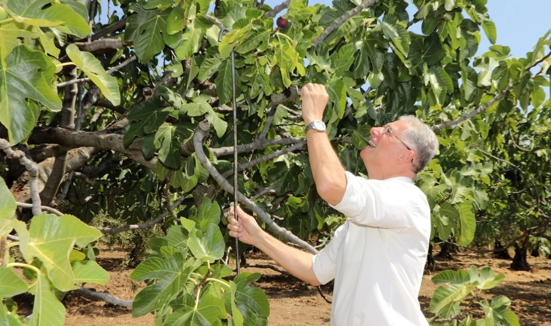
[[[166,318],[166,326],[222,325],[225,319],[224,301],[206,293],[195,307],[195,299],[187,294],[181,300],[180,308]]]

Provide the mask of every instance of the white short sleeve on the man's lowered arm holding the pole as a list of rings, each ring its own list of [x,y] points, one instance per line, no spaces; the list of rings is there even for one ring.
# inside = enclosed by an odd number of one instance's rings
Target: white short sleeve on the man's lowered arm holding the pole
[[[331,241],[319,253],[312,256],[312,269],[321,284],[327,284],[335,278],[337,252],[346,237],[347,230],[348,221],[336,229]]]

